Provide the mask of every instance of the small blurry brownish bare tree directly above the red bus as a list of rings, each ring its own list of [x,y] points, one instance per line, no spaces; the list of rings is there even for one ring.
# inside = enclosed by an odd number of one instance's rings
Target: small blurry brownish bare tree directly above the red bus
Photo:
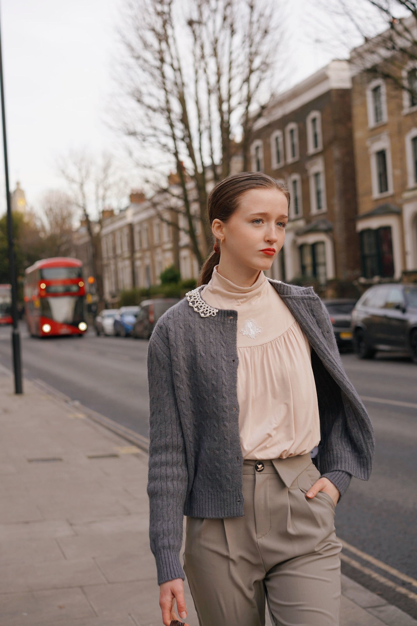
[[[71,252],[74,205],[68,193],[49,190],[41,197],[43,236],[48,255],[66,256]]]

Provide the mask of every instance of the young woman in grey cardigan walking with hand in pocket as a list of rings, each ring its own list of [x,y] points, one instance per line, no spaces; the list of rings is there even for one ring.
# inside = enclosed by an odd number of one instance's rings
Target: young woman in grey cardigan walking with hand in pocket
[[[311,287],[267,279],[288,190],[262,173],[208,198],[216,238],[199,287],[149,341],[151,550],[165,626],[339,623],[334,506],[368,480],[373,429]],[[184,570],[179,560],[186,515]]]

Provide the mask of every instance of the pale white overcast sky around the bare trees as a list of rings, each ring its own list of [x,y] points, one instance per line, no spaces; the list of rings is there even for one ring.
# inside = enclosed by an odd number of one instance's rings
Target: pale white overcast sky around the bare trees
[[[308,5],[311,0],[289,4],[292,83],[331,56],[308,35]],[[10,185],[13,190],[20,180],[35,207],[44,190],[64,187],[55,167],[59,154],[81,146],[97,154],[121,150],[105,119],[122,6],[123,0],[1,0]],[[0,165],[3,212],[3,158]]]

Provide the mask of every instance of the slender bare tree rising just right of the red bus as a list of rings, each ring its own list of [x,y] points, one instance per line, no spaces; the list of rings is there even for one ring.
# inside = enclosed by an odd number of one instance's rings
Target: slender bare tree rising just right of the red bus
[[[58,159],[58,171],[67,183],[73,207],[81,213],[91,242],[92,264],[99,299],[103,299],[101,271],[101,221],[104,208],[118,204],[127,182],[113,156],[104,152],[93,158],[86,150],[72,150]]]

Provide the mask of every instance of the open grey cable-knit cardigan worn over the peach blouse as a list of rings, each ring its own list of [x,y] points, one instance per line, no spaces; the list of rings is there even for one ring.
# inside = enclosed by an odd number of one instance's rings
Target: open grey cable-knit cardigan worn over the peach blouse
[[[373,429],[344,372],[328,312],[312,287],[268,279],[311,344],[321,441],[316,463],[341,495],[368,480]],[[199,287],[158,321],[148,347],[149,538],[158,584],[185,578],[183,516],[243,516],[236,310],[206,305]]]

